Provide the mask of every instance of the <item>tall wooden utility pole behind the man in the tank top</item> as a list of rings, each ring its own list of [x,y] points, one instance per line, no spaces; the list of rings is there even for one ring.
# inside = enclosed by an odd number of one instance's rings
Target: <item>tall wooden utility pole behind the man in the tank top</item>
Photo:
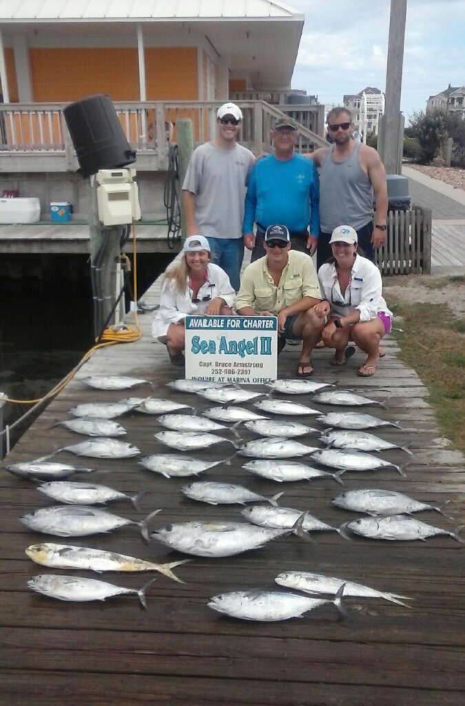
[[[401,138],[400,97],[404,62],[407,0],[391,0],[389,43],[387,46],[386,100],[381,144],[378,152],[387,174],[397,174]]]

